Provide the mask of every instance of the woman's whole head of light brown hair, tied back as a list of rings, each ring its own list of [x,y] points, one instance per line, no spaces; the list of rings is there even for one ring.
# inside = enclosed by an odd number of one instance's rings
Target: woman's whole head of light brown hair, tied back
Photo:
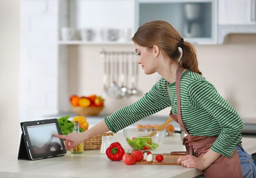
[[[163,20],[154,20],[144,23],[132,37],[132,41],[139,46],[151,49],[154,45],[159,46],[163,54],[172,61],[177,62],[180,58],[180,66],[192,72],[202,74],[198,69],[198,61],[195,48],[191,43],[184,41],[179,32],[171,24]],[[172,62],[171,61],[171,62]]]

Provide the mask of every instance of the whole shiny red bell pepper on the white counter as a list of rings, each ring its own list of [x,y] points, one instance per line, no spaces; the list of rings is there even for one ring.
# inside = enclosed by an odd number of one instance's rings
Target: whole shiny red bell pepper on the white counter
[[[106,149],[106,155],[108,159],[112,161],[121,161],[122,156],[125,154],[125,149],[122,147],[119,142],[112,143],[107,149]]]

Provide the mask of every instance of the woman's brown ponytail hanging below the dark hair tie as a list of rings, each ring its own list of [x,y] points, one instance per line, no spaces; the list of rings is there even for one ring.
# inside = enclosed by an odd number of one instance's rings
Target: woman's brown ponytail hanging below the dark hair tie
[[[194,46],[191,43],[184,41],[181,49],[182,56],[179,62],[180,66],[202,75],[202,72],[198,69],[198,60]]]

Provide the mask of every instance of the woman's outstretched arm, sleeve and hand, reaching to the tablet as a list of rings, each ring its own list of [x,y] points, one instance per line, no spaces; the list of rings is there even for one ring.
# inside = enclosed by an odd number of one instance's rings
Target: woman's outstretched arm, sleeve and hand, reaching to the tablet
[[[125,106],[122,109],[117,110],[112,115],[108,116],[96,124],[92,128],[84,132],[74,132],[68,135],[55,135],[57,138],[65,139],[65,145],[68,150],[72,147],[81,144],[84,140],[92,138],[96,135],[103,134],[108,131],[114,133],[119,130],[152,115],[160,110],[171,106],[171,101],[166,98],[159,89],[159,85],[163,87],[163,79],[160,79],[151,90],[146,93],[143,98],[137,102]],[[70,145],[69,145],[70,144]]]

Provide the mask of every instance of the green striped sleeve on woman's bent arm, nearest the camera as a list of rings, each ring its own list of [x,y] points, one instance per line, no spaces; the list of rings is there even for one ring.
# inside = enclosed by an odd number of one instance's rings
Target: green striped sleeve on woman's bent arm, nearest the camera
[[[240,116],[219,95],[215,87],[205,80],[192,81],[189,85],[188,92],[192,104],[207,110],[222,128],[211,149],[230,158],[237,144],[240,142],[241,132],[244,128],[244,123]]]

